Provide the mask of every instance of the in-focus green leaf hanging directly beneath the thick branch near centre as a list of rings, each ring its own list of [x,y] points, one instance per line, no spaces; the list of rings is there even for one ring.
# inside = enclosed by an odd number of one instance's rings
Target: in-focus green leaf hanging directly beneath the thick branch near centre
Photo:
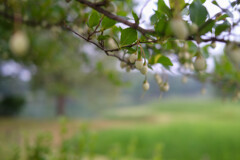
[[[137,40],[137,31],[133,28],[126,28],[121,31],[121,45],[129,45]]]

